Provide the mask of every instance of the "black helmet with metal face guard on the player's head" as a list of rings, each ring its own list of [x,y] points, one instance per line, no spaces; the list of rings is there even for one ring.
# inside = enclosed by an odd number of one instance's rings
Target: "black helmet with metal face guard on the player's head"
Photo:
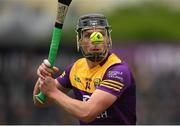
[[[79,45],[79,40],[82,38],[82,33],[84,30],[92,29],[92,28],[104,28],[107,31],[107,35],[109,37],[108,46],[112,46],[111,41],[111,28],[108,24],[107,18],[102,14],[87,14],[83,15],[78,19],[76,32],[77,32],[77,49],[81,50],[82,54],[85,58],[89,59],[90,61],[101,61],[106,55],[108,50],[103,53],[88,53],[85,54],[82,47]]]

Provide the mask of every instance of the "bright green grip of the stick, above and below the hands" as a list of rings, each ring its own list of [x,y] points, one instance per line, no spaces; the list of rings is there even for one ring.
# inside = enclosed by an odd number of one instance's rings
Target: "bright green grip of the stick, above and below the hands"
[[[54,66],[54,62],[56,59],[60,39],[61,39],[61,32],[62,29],[54,27],[53,29],[53,37],[50,45],[50,50],[49,50],[49,56],[48,56],[48,61],[51,64],[51,68]],[[41,103],[44,104],[46,101],[46,96],[42,91],[38,95],[36,95],[36,99]]]

